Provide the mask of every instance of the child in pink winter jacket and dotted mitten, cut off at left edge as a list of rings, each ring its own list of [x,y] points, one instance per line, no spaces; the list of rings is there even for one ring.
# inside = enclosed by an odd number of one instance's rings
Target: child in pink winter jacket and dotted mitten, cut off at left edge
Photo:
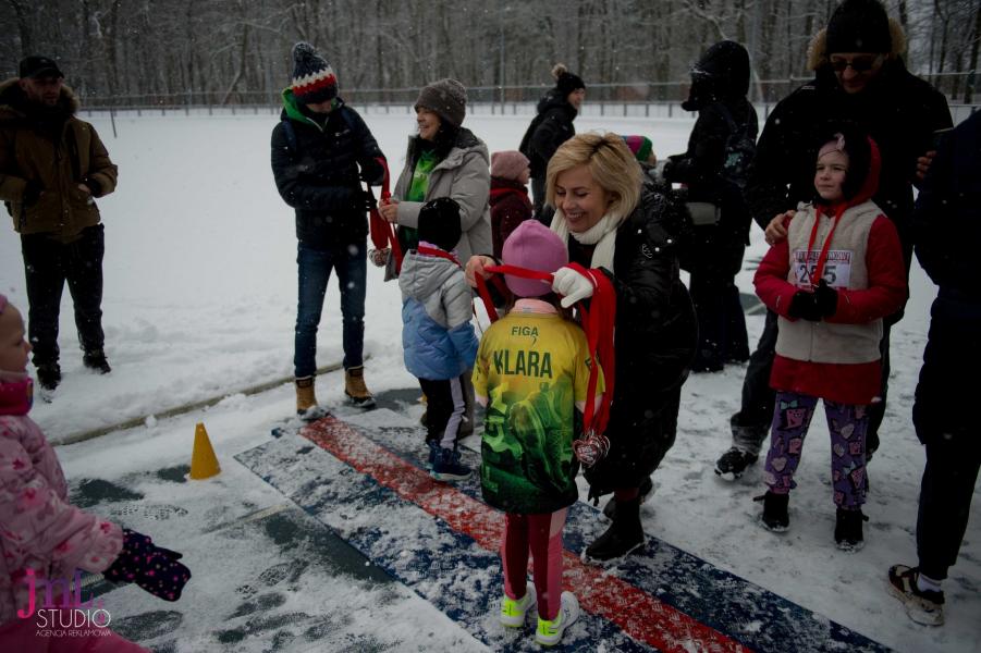
[[[79,570],[164,601],[181,597],[191,571],[180,553],[70,503],[54,447],[27,417],[34,382],[24,335],[21,312],[0,295],[0,651],[146,652],[109,630],[101,600],[84,600]]]

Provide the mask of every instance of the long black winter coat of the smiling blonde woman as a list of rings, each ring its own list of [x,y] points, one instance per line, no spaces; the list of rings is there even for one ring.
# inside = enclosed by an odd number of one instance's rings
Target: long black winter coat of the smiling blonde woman
[[[634,212],[616,232],[616,377],[606,436],[609,455],[586,470],[590,496],[636,488],[674,444],[682,384],[695,355],[697,325],[678,275],[678,208],[645,185]],[[569,237],[569,260],[589,256]]]

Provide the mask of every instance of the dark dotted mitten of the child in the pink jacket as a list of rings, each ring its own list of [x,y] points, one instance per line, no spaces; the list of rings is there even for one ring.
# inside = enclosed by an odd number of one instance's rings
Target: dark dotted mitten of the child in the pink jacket
[[[164,601],[181,597],[191,569],[179,563],[183,556],[169,549],[155,546],[143,533],[123,529],[123,550],[102,575],[112,582],[135,582]]]

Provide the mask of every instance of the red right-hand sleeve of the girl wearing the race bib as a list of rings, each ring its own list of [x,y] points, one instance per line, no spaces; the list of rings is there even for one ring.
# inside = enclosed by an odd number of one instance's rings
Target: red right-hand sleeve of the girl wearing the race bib
[[[896,226],[879,215],[869,230],[866,248],[869,287],[838,291],[838,306],[827,322],[863,324],[892,315],[903,308],[907,297],[906,263]]]

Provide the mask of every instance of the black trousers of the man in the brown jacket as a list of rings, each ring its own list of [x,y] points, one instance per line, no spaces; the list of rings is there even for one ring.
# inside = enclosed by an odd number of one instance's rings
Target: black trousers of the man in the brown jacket
[[[86,352],[101,349],[102,256],[101,224],[86,227],[78,239],[60,243],[45,234],[21,236],[24,276],[27,281],[27,337],[34,347],[34,365],[58,361],[58,316],[64,282],[75,307],[78,342]]]

